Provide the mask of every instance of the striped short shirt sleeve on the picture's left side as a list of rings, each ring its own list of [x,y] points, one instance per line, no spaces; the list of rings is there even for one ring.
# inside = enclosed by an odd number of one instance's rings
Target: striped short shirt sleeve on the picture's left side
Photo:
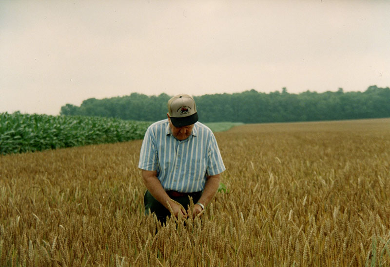
[[[156,138],[153,135],[152,128],[149,127],[142,141],[138,168],[146,171],[156,171],[157,163]]]

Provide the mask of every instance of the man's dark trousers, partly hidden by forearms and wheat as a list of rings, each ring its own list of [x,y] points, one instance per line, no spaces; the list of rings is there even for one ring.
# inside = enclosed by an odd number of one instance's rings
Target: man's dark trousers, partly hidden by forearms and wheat
[[[170,196],[170,194],[168,194]],[[200,192],[194,192],[194,193],[186,193],[183,196],[170,196],[173,200],[179,202],[184,209],[187,210],[188,206],[190,205],[190,198],[192,198],[192,201],[194,204],[198,202],[200,196],[202,196],[202,191]],[[157,219],[161,222],[161,225],[165,223],[167,216],[170,216],[171,213],[168,209],[166,209],[160,202],[150,194],[149,190],[146,190],[145,196],[143,198],[144,204],[145,204],[145,214],[149,214],[149,209],[151,213],[155,213],[157,216]]]

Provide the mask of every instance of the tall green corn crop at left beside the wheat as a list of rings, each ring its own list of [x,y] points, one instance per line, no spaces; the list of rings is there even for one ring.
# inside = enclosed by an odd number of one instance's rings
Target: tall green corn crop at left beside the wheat
[[[0,155],[142,139],[148,122],[0,113]]]

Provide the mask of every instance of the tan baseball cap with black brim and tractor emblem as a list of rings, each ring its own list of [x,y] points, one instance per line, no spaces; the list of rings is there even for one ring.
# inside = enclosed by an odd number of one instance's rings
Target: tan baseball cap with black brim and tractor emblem
[[[198,121],[195,100],[188,94],[178,94],[168,100],[168,114],[175,127],[192,125]]]

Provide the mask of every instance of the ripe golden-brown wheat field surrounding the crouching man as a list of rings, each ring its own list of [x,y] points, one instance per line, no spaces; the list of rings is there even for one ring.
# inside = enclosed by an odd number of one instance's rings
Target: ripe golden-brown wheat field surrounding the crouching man
[[[166,226],[140,140],[0,156],[0,266],[390,266],[390,119],[215,136],[226,190]]]

